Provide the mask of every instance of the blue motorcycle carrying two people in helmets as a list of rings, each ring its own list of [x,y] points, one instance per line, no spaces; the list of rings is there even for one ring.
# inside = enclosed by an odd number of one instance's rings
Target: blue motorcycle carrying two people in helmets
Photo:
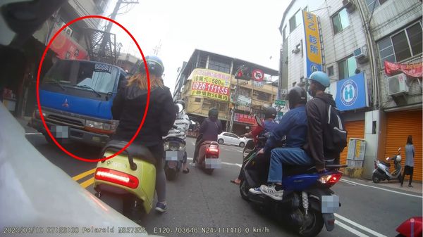
[[[265,137],[260,139],[265,141]],[[324,225],[327,231],[335,228],[334,213],[341,203],[330,188],[342,177],[338,169],[346,165],[326,165],[326,172],[322,174],[312,166],[285,165],[283,200],[278,201],[248,191],[267,182],[269,164],[264,164],[256,154],[255,151],[250,153],[241,174],[240,194],[245,200],[271,214],[281,224],[293,228],[300,236],[317,236]]]

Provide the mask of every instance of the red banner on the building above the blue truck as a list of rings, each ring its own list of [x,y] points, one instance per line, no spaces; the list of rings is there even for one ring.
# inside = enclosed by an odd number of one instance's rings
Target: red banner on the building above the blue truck
[[[53,35],[53,32],[51,35]],[[60,32],[51,44],[51,49],[58,54],[61,59],[85,59],[88,60],[87,51],[75,40],[68,37],[68,34]]]

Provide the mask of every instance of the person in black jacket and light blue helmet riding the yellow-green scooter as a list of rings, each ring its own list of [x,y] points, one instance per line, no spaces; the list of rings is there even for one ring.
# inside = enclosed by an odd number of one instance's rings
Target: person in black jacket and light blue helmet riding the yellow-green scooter
[[[150,78],[149,108],[145,122],[133,143],[147,146],[156,159],[156,210],[166,210],[166,177],[162,160],[164,159],[163,136],[173,126],[176,119],[175,105],[171,92],[164,87],[161,75],[164,71],[163,63],[157,56],[145,57]],[[128,80],[114,98],[111,113],[114,120],[120,120],[114,140],[130,141],[137,131],[147,106],[147,74],[143,66],[141,72]]]

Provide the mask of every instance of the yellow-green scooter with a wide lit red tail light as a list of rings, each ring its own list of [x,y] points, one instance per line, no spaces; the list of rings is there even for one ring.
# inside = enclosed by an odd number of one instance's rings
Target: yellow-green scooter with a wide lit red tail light
[[[125,145],[123,141],[109,141],[102,149],[102,157],[113,155]],[[130,219],[149,213],[154,202],[155,163],[148,148],[135,144],[114,158],[98,162],[94,174],[95,196]]]

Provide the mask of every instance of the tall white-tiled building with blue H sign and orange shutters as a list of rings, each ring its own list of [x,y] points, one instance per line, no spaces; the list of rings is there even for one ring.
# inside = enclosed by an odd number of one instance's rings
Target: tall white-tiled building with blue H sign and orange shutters
[[[280,94],[325,71],[348,138],[366,141],[366,178],[412,135],[422,180],[421,9],[418,0],[293,0],[283,13]]]

